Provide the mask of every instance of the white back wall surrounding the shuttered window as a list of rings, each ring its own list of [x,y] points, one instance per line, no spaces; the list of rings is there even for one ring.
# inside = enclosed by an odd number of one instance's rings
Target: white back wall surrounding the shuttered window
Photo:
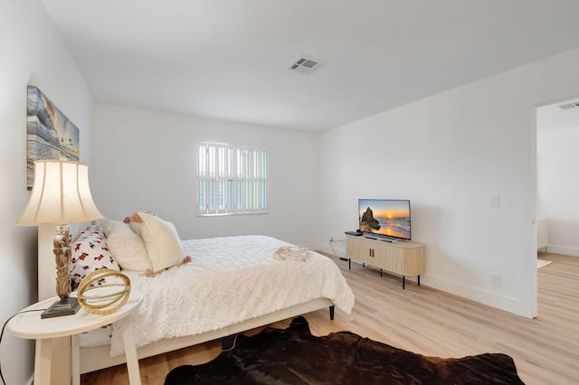
[[[299,245],[318,239],[318,135],[108,105],[95,107],[91,191],[100,211],[122,220],[151,210],[182,239],[266,234]],[[268,214],[196,216],[196,145],[268,151]]]

